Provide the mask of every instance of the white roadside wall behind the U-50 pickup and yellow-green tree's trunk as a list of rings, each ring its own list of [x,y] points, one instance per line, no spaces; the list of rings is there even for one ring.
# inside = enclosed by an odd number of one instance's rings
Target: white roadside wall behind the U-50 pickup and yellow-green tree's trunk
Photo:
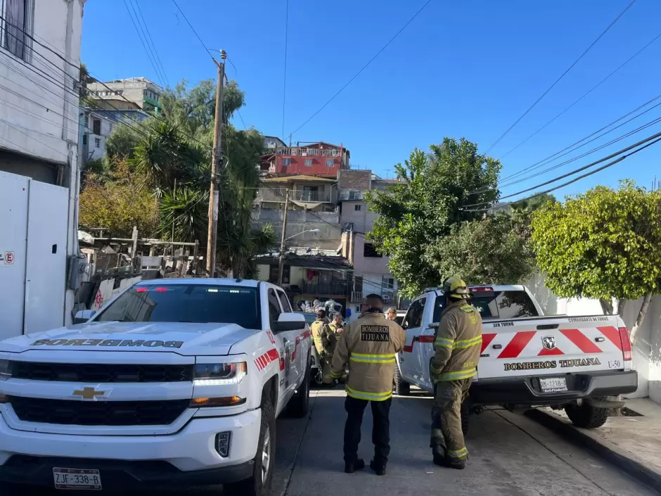
[[[601,304],[591,298],[558,298],[546,286],[544,276],[536,275],[525,284],[539,301],[544,313],[566,315],[601,315]],[[642,298],[629,301],[621,316],[629,331],[636,322]],[[634,369],[638,371],[638,390],[628,398],[646,398],[661,403],[661,296],[650,304],[643,326],[636,333]]]

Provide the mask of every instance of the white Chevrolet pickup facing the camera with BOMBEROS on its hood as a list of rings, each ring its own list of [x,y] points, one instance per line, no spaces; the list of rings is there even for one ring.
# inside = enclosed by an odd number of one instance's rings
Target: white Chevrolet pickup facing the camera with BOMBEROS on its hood
[[[309,408],[309,327],[281,288],[143,281],[77,319],[0,343],[0,485],[270,494],[275,419]]]

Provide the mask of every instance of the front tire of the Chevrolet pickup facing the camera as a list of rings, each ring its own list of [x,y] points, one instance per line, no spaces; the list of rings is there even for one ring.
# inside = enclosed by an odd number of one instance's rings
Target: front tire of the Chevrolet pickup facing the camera
[[[262,424],[259,427],[257,454],[252,476],[223,486],[223,493],[236,496],[270,496],[276,454],[276,415],[270,398],[262,400]]]

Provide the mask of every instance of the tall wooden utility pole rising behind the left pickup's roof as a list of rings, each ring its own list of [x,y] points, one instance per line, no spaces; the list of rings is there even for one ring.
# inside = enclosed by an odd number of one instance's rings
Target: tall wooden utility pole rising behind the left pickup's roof
[[[214,119],[214,148],[211,162],[211,184],[209,186],[209,229],[207,231],[207,277],[216,276],[216,244],[218,241],[218,198],[220,193],[219,170],[223,157],[222,130],[223,130],[223,80],[225,77],[224,50],[220,51],[222,62],[214,62],[218,66],[218,80],[216,82],[216,118]]]

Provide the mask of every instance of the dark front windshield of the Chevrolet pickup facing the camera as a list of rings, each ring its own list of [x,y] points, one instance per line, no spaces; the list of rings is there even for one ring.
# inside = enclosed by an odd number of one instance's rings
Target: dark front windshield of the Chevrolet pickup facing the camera
[[[95,322],[222,322],[260,329],[257,288],[209,284],[134,286]]]

